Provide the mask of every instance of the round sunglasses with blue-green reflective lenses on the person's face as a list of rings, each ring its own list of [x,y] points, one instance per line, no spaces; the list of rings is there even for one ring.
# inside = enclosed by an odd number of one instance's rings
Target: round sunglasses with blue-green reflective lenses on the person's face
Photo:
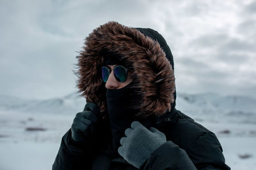
[[[114,69],[114,76],[117,81],[120,83],[124,83],[124,81],[127,80],[127,71],[128,69],[123,66],[115,66]],[[109,69],[106,66],[101,67],[101,73],[102,73],[102,80],[104,82],[108,81],[109,74],[111,73],[111,69]]]

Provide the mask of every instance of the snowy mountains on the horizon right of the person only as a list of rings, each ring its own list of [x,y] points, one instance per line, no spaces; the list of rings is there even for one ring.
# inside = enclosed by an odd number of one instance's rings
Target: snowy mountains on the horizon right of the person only
[[[218,94],[177,94],[176,108],[196,120],[256,124],[256,99]]]

